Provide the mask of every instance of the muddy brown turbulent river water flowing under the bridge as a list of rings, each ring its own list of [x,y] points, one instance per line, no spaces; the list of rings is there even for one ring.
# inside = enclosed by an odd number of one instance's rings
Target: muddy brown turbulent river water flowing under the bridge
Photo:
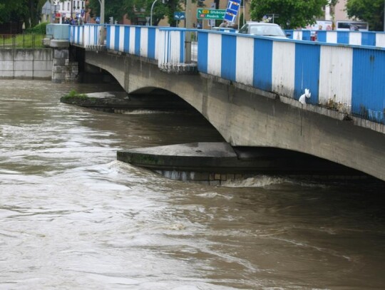
[[[0,289],[384,289],[384,184],[168,180],[116,151],[220,135],[73,86],[0,81]]]

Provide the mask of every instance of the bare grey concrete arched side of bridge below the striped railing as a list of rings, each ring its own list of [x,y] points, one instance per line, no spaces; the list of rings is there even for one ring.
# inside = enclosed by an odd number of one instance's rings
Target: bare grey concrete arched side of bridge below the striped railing
[[[109,71],[128,93],[163,88],[193,105],[233,146],[305,152],[385,180],[385,128],[344,114],[203,73],[173,75],[135,56],[86,53],[86,63]],[[365,123],[369,121],[365,120]],[[370,128],[371,127],[371,128]]]

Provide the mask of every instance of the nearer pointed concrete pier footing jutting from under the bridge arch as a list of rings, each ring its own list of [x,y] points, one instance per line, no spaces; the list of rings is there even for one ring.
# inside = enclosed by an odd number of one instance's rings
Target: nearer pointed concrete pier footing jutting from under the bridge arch
[[[274,152],[274,153],[272,153]],[[209,182],[237,180],[260,174],[363,177],[342,165],[297,152],[253,148],[234,150],[229,143],[188,143],[135,148],[117,152],[117,160],[154,170],[175,180]]]

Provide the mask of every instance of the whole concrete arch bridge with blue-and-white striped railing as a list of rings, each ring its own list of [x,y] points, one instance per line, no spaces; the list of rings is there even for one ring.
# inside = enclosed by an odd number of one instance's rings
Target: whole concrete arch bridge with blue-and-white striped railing
[[[370,36],[378,40],[369,46],[297,40],[297,32],[277,39],[152,26],[70,28],[86,63],[111,73],[128,93],[179,95],[234,147],[304,152],[385,180],[382,37]],[[305,89],[311,95],[299,101]]]

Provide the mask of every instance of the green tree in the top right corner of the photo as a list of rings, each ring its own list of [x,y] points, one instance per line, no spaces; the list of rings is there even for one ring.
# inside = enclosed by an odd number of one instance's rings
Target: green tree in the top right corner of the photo
[[[384,0],[348,0],[347,14],[369,23],[369,29],[384,29]]]

